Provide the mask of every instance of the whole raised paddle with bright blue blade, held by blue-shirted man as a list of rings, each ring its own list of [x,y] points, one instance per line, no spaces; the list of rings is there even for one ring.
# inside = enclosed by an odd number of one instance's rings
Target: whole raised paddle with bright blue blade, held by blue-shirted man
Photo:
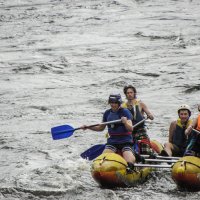
[[[98,125],[115,124],[119,122],[121,122],[121,119],[109,121],[109,122],[103,122],[99,124],[93,124],[93,125],[86,126],[85,128],[91,128]],[[79,130],[79,129],[82,129],[82,127],[73,128],[70,125],[56,126],[56,127],[51,128],[51,134],[54,140],[59,140],[59,139],[70,137],[71,135],[73,135],[74,131]]]

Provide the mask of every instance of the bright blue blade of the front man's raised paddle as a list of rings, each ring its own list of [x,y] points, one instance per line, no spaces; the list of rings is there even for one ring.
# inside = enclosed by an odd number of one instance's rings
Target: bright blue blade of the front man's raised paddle
[[[69,125],[56,126],[51,128],[51,134],[54,140],[68,138],[73,135],[73,132],[74,128]]]

